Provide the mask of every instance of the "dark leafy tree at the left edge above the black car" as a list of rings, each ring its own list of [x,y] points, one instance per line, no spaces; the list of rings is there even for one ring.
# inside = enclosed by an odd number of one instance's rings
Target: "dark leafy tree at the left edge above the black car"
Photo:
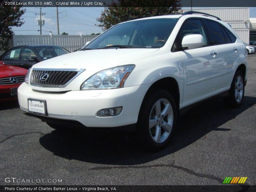
[[[24,22],[21,15],[25,13],[25,9],[21,5],[4,5],[4,2],[12,2],[11,0],[0,1],[0,49],[7,50],[10,48],[10,40],[12,38],[12,27],[20,27]]]

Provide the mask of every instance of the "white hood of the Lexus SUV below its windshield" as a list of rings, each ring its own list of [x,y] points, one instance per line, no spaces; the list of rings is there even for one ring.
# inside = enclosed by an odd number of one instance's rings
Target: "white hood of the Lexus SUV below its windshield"
[[[122,65],[125,61],[157,51],[157,49],[96,49],[68,53],[37,63],[33,68],[103,70]],[[129,63],[134,64],[134,63]]]

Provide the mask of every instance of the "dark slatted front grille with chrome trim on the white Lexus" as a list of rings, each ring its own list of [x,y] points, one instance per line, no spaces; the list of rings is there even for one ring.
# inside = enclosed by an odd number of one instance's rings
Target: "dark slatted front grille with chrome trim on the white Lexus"
[[[85,69],[56,69],[33,68],[30,74],[30,85],[37,87],[65,87]],[[40,76],[49,75],[46,81],[41,81]]]

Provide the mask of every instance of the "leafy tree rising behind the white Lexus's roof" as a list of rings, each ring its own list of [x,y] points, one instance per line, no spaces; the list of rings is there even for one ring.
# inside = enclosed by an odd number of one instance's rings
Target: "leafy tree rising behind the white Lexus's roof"
[[[166,7],[160,7],[161,5]],[[117,23],[134,18],[177,13],[180,6],[180,0],[117,0],[107,4],[107,7],[97,19],[100,22],[98,26],[105,31]]]

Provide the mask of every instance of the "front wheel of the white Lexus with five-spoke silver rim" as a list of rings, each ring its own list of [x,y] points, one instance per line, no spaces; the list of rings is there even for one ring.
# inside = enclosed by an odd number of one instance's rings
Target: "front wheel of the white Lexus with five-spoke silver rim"
[[[172,95],[164,89],[153,90],[140,108],[136,138],[149,151],[164,148],[171,140],[177,121],[177,108]]]

